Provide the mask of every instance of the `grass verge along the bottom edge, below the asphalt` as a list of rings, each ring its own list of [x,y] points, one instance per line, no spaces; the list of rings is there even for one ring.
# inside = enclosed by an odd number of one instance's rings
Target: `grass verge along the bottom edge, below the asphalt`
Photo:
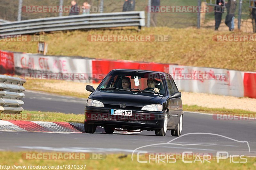
[[[183,163],[182,160],[177,160],[176,163],[166,163],[164,162],[156,163],[151,160],[150,163],[138,163],[137,158],[134,156],[133,161],[131,155],[120,155],[120,154],[110,154],[107,155],[105,159],[95,159],[95,160],[28,160],[23,159],[23,153],[35,153],[35,152],[0,152],[0,162],[1,165],[7,165],[12,167],[16,166],[63,166],[69,165],[86,165],[85,169],[255,169],[256,158],[246,158],[247,163],[230,163],[229,159],[220,160],[220,163],[217,163],[217,160],[211,160],[211,163],[205,162],[201,163],[196,161],[195,163]],[[140,157],[140,161],[148,161],[145,157]],[[234,159],[239,161],[238,158]],[[193,161],[193,160],[192,160]],[[244,160],[240,160],[244,161]],[[25,169],[17,168],[17,169]],[[65,169],[65,168],[63,168]],[[68,168],[66,168],[68,169]],[[69,168],[71,169],[71,168]],[[73,168],[74,169],[74,168]],[[82,168],[84,169],[84,167]]]

